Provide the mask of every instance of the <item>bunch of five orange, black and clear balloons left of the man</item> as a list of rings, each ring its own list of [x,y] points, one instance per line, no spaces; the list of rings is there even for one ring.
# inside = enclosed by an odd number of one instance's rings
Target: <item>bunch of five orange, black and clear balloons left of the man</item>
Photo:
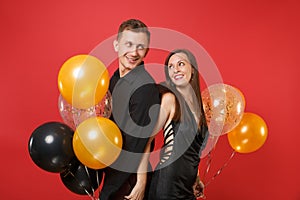
[[[59,173],[66,188],[91,198],[101,183],[102,169],[118,158],[123,144],[119,128],[108,119],[108,85],[108,71],[96,57],[69,58],[58,74],[58,109],[64,123],[40,125],[28,142],[38,167]]]

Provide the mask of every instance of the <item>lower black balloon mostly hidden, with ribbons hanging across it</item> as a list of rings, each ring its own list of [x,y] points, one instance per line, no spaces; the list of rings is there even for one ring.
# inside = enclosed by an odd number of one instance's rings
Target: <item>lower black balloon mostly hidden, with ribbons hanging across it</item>
[[[102,181],[102,170],[86,167],[79,161],[72,164],[69,170],[60,173],[63,184],[71,191],[80,195],[92,195]]]

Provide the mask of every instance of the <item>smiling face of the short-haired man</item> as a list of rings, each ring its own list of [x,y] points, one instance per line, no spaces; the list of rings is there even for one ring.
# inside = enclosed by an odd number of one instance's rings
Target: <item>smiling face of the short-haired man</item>
[[[119,56],[120,76],[138,66],[147,54],[149,42],[146,33],[125,30],[119,40],[114,41]]]

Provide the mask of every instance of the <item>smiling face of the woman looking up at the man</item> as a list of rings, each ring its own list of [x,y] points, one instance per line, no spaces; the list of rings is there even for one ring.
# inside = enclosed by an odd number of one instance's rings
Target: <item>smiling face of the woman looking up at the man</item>
[[[169,59],[168,72],[176,87],[184,87],[191,80],[193,68],[184,53],[176,53]]]

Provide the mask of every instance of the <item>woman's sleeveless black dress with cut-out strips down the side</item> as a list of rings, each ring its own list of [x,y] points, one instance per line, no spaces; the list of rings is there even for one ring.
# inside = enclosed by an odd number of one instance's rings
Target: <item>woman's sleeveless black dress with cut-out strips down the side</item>
[[[207,125],[198,128],[184,100],[180,100],[181,121],[172,121],[164,129],[160,162],[153,172],[149,200],[194,200],[201,150],[208,138]]]

